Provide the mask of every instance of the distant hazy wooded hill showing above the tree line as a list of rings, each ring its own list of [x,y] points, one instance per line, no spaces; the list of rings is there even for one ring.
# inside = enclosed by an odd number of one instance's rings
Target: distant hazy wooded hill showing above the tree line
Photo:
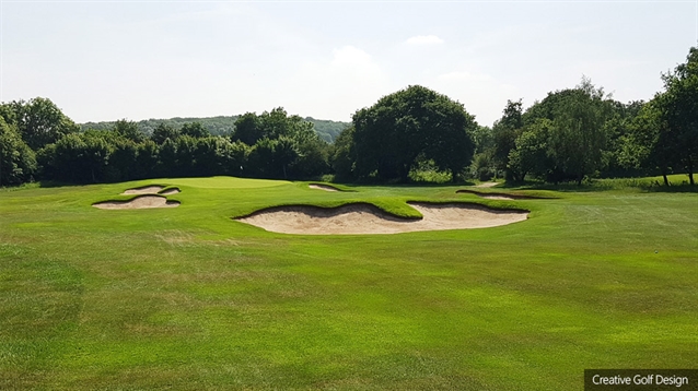
[[[142,121],[138,121],[138,128],[146,134],[150,135],[153,133],[153,130],[160,125],[165,123],[175,129],[182,128],[183,125],[188,122],[199,122],[209,132],[213,135],[230,135],[235,130],[235,121],[239,116],[219,116],[219,117],[207,117],[207,118],[170,118],[170,119],[144,119]],[[335,142],[335,139],[339,133],[351,126],[351,122],[339,122],[339,121],[330,121],[325,119],[315,119],[312,117],[305,117],[305,120],[309,122],[313,122],[315,126],[315,131],[317,134],[328,143]],[[116,121],[104,121],[104,122],[85,122],[80,123],[80,129],[96,129],[96,130],[108,130],[114,128]]]

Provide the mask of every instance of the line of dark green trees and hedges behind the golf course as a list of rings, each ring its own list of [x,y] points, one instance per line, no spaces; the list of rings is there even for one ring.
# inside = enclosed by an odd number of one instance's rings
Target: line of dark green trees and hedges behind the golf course
[[[698,49],[662,80],[664,91],[650,102],[624,104],[583,78],[525,110],[521,99],[509,100],[491,128],[462,104],[414,85],[357,110],[334,143],[318,135],[317,120],[281,107],[234,117],[230,131],[212,134],[200,121],[81,128],[47,98],[15,100],[0,104],[0,186],[328,174],[338,181],[405,182],[424,169],[453,181],[503,176],[555,183],[661,174],[666,186],[668,174],[686,173],[694,185]]]

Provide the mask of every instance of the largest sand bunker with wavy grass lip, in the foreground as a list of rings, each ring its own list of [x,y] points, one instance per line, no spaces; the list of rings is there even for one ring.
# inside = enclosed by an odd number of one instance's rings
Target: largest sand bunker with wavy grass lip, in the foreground
[[[410,202],[423,218],[397,217],[379,208],[354,203],[339,208],[277,206],[235,218],[282,234],[359,235],[397,234],[417,230],[487,228],[526,220],[528,212],[492,210],[466,203]]]

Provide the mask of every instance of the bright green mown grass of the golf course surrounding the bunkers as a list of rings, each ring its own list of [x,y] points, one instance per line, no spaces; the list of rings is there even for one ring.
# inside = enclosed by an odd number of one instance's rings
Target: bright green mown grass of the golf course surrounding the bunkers
[[[182,205],[91,208],[151,183],[178,187]],[[342,189],[217,177],[0,192],[0,389],[579,390],[584,368],[698,363],[695,193]],[[358,201],[414,216],[414,200],[532,213],[319,237],[231,218]]]

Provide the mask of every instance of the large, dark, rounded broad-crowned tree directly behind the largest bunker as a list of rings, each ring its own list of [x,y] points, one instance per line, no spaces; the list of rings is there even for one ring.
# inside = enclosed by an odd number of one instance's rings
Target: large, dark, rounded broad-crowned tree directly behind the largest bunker
[[[353,115],[356,173],[407,181],[418,158],[431,159],[452,179],[472,161],[475,117],[462,104],[415,85]]]

